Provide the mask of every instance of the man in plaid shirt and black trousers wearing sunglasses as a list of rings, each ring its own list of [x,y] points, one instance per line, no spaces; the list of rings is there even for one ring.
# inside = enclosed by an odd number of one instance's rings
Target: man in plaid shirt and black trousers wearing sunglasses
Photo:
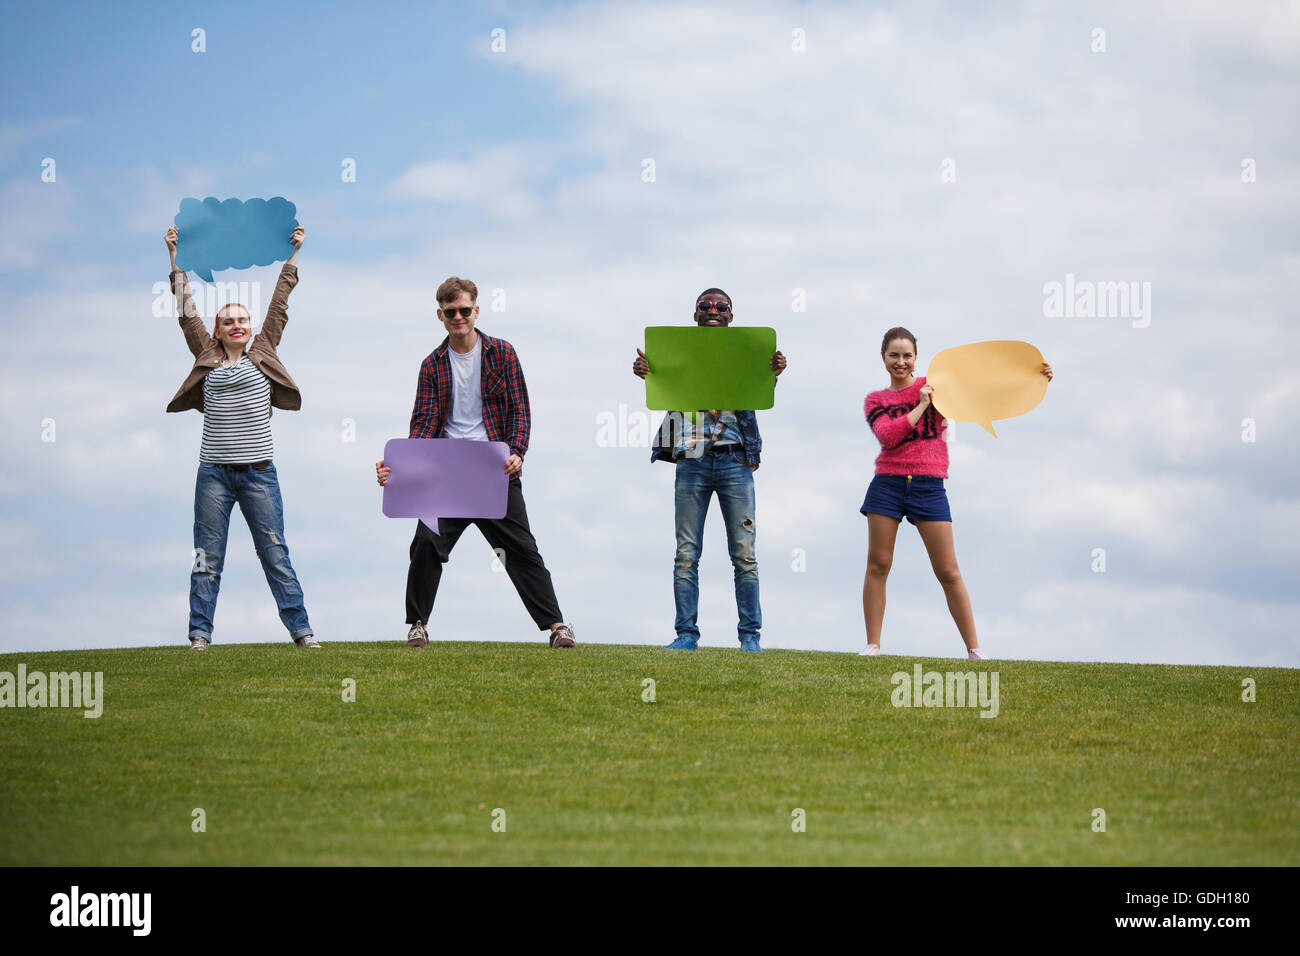
[[[433,613],[442,566],[460,535],[474,524],[494,550],[504,553],[506,574],[538,630],[551,632],[550,645],[572,648],[573,630],[563,620],[551,574],[537,551],[524,506],[520,475],[532,418],[519,356],[506,339],[474,328],[478,286],[473,282],[452,276],[438,286],[437,299],[438,317],[447,337],[420,365],[410,437],[506,442],[510,446],[506,459],[510,493],[504,518],[442,518],[439,535],[424,522],[416,523],[407,572],[407,623],[411,626],[407,646],[429,646],[426,622]],[[376,463],[374,472],[380,485],[387,483],[389,468],[382,460]]]

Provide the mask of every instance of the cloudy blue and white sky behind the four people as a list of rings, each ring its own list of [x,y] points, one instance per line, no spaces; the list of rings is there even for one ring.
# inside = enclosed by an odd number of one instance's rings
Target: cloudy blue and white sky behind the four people
[[[164,411],[192,359],[162,234],[187,196],[285,196],[303,407],[272,431],[322,644],[406,639],[413,522],[373,466],[456,274],[523,363],[524,494],[580,645],[673,637],[673,473],[630,367],[720,286],[789,360],[758,414],[764,646],[866,643],[862,401],[904,325],[922,373],[985,339],[1056,373],[996,438],[953,429],[991,657],[1300,666],[1297,10],[6,5],[0,652],[185,644],[202,416]],[[217,280],[256,325],[277,272]],[[1060,315],[1067,282],[1143,308]],[[716,505],[705,533],[702,643],[736,648]],[[432,640],[542,640],[493,557],[462,538]],[[235,515],[213,640],[287,640]],[[906,523],[883,649],[965,657]]]

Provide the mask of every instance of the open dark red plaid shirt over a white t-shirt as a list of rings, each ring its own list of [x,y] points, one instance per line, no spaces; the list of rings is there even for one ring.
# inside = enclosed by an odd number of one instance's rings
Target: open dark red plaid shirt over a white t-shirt
[[[528,454],[528,434],[533,419],[528,410],[528,385],[519,367],[515,346],[504,338],[478,333],[482,341],[480,384],[484,401],[484,428],[489,441],[503,441],[523,458]],[[441,438],[451,414],[450,337],[420,364],[420,384],[411,410],[412,438]]]

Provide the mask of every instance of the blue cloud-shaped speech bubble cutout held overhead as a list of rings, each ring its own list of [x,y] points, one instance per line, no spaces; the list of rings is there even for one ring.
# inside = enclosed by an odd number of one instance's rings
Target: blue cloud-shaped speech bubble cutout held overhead
[[[213,269],[248,269],[289,259],[298,208],[273,199],[182,199],[176,213],[176,264],[204,282]]]

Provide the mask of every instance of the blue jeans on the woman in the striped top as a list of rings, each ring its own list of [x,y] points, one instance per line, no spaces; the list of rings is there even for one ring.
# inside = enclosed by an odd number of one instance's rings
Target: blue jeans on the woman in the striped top
[[[226,537],[230,509],[248,522],[252,544],[261,559],[270,593],[276,596],[280,619],[294,640],[312,633],[303,606],[303,589],[285,544],[285,506],[280,499],[276,466],[235,470],[225,464],[199,464],[194,485],[194,567],[190,571],[190,636],[212,640],[212,618],[217,613],[221,568],[226,563]]]

